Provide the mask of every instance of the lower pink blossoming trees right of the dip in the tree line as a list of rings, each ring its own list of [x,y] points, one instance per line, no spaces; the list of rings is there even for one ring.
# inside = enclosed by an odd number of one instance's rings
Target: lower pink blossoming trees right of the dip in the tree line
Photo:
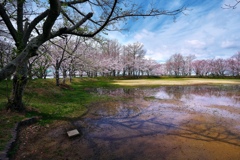
[[[194,60],[194,55],[174,54],[162,65],[162,75],[169,76],[240,76],[240,52],[227,59]]]

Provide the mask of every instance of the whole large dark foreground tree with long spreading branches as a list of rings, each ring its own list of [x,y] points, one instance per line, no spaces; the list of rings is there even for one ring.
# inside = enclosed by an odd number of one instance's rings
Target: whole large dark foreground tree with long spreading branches
[[[173,16],[184,10],[168,11],[156,5],[149,6],[147,10],[143,8],[141,3],[125,0],[1,1],[0,33],[13,41],[17,53],[0,70],[0,80],[15,73],[8,108],[24,110],[22,97],[27,84],[27,62],[50,39],[66,34],[94,37],[102,31],[118,30],[116,24],[127,18]]]

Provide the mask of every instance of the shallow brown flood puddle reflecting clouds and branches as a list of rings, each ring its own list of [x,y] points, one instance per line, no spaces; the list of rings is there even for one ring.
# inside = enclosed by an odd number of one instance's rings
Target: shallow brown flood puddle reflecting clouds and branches
[[[240,86],[94,92],[130,100],[94,104],[74,122],[81,159],[240,159]]]

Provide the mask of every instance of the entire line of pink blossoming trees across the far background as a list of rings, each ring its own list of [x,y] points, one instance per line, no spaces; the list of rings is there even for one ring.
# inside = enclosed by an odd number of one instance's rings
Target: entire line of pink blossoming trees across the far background
[[[11,43],[1,41],[0,68],[14,55]],[[28,61],[29,78],[46,78],[53,71],[56,84],[60,75],[67,77],[97,76],[240,76],[240,52],[228,59],[196,60],[195,55],[172,55],[164,64],[145,58],[139,42],[122,45],[117,40],[81,39],[65,36],[49,41]]]

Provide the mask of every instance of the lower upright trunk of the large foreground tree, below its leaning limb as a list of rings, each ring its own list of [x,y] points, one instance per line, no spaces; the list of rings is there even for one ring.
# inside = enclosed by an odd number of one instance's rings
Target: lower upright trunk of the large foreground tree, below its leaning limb
[[[11,97],[8,99],[7,108],[10,110],[24,111],[23,93],[27,84],[28,78],[27,62],[25,62],[13,77],[13,89]]]

